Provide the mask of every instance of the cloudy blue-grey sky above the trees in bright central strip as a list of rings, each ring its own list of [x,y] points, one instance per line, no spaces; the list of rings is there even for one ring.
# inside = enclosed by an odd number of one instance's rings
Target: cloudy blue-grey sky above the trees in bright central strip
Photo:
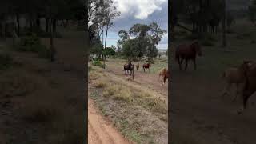
[[[120,17],[114,20],[114,26],[110,28],[107,46],[117,45],[118,31],[129,30],[136,23],[150,24],[158,22],[162,29],[168,27],[168,3],[167,0],[114,0],[114,5],[121,12]],[[167,49],[167,34],[159,42],[159,49]]]

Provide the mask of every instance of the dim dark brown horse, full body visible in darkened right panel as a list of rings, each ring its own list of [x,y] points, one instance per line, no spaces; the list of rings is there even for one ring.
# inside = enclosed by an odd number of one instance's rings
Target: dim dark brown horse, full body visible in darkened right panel
[[[201,47],[198,41],[192,42],[190,45],[179,45],[176,49],[175,59],[178,61],[179,70],[182,70],[182,62],[185,59],[187,69],[187,62],[192,60],[194,62],[194,70],[197,69],[196,55],[202,56]],[[181,59],[180,59],[181,58]]]

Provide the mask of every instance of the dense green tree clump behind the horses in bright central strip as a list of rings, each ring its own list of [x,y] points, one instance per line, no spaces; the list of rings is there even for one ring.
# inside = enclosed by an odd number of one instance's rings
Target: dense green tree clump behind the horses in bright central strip
[[[150,25],[134,24],[129,30],[120,30],[118,35],[117,53],[126,58],[155,58],[158,56],[158,50],[155,45],[161,41],[166,30],[162,30],[156,22]],[[130,39],[131,38],[131,39]]]

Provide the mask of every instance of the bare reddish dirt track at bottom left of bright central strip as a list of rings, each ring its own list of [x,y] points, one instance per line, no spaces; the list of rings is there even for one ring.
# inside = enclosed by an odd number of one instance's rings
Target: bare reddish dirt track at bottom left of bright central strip
[[[90,144],[129,144],[122,134],[115,130],[106,118],[98,113],[94,101],[89,99],[88,103],[88,142]]]

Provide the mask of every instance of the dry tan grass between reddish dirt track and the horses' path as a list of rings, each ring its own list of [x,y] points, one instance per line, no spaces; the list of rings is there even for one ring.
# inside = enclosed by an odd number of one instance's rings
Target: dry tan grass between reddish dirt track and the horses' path
[[[138,143],[154,143],[155,134],[162,133],[161,126],[165,127],[167,122],[166,102],[156,92],[128,82],[126,78],[107,72],[100,74],[102,77],[94,83],[99,83],[101,89],[92,85],[97,92],[90,97],[101,108],[102,114],[110,116],[126,138]],[[102,87],[102,82],[107,85]]]

